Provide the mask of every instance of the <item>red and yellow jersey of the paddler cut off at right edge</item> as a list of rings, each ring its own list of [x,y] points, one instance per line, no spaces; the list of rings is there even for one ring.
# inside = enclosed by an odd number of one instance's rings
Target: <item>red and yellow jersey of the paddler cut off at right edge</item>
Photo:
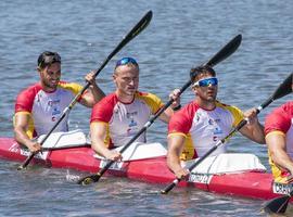
[[[286,153],[293,158],[293,101],[273,110],[272,113],[266,117],[265,133],[266,137],[271,133],[285,136]],[[277,166],[272,162],[270,153],[268,154],[275,181],[285,181],[285,177],[290,175],[289,171]]]

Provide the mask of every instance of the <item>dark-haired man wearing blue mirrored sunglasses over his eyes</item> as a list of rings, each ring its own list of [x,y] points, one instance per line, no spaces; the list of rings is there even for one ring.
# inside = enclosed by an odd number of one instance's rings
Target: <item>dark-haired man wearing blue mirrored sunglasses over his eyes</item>
[[[189,175],[181,161],[203,156],[244,117],[250,124],[240,132],[257,143],[265,143],[264,127],[255,108],[243,114],[238,107],[217,101],[218,79],[212,67],[192,68],[191,78],[195,99],[177,112],[168,126],[167,164],[179,179]],[[225,152],[226,145],[221,145],[213,155]]]

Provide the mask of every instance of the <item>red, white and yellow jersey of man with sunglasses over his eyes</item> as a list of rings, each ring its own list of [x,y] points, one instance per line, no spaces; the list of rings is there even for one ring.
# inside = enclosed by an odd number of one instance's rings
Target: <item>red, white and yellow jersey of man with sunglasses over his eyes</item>
[[[216,102],[214,110],[204,110],[191,102],[175,113],[168,125],[168,137],[181,135],[186,143],[180,158],[188,161],[203,156],[242,119],[243,113],[234,106]],[[226,145],[219,146],[213,155],[226,152]]]

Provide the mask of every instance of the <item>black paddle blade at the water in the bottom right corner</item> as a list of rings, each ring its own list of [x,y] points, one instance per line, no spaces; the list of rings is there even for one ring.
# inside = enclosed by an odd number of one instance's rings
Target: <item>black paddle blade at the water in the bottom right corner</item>
[[[272,199],[265,204],[264,210],[267,213],[283,214],[285,213],[290,199],[290,195]]]

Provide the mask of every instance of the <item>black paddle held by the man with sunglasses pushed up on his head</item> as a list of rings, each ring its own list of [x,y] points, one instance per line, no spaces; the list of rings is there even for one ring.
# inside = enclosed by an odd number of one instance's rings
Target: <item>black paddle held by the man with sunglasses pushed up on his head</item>
[[[234,37],[231,41],[229,41],[218,53],[216,53],[205,65],[214,66],[217,63],[224,61],[226,58],[231,55],[240,46],[242,40],[241,35],[238,35]],[[183,87],[181,87],[179,95],[182,94],[182,92],[192,84],[192,80],[190,79]],[[137,132],[137,135],[129,140],[127,144],[124,145],[124,148],[120,150],[120,153],[123,153],[130,144],[136,141],[137,138],[140,137],[141,133],[143,133],[153,123],[154,120],[165,111],[167,110],[174,100],[169,100],[150,120]],[[81,178],[78,180],[77,183],[86,186],[91,182],[98,182],[100,178],[103,176],[103,174],[114,164],[115,161],[110,161],[107,164],[100,170],[98,174],[87,176],[85,178]]]

